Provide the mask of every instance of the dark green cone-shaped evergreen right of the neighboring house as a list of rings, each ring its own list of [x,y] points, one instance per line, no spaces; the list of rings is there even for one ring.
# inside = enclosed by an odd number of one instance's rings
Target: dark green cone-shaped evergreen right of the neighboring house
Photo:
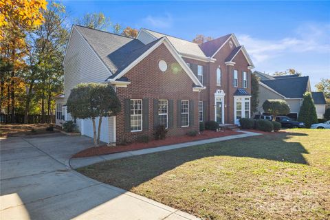
[[[300,107],[299,122],[304,122],[305,126],[309,129],[311,124],[318,123],[318,115],[316,114],[316,108],[311,98],[311,93],[306,92],[303,98],[303,104]]]

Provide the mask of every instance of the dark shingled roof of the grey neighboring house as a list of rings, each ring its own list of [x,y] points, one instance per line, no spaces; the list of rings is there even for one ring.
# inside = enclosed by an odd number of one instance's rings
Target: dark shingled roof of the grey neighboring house
[[[274,89],[285,98],[303,98],[307,91],[309,77],[278,78],[274,80],[261,80],[261,83]]]

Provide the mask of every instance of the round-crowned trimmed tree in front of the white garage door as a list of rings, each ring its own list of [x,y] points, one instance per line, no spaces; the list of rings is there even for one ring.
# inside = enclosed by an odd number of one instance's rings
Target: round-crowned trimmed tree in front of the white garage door
[[[87,119],[93,122],[94,145],[100,144],[102,117],[115,116],[121,111],[118,99],[111,85],[101,83],[79,84],[71,90],[67,99],[67,112],[73,118]],[[98,119],[98,132],[96,122]]]

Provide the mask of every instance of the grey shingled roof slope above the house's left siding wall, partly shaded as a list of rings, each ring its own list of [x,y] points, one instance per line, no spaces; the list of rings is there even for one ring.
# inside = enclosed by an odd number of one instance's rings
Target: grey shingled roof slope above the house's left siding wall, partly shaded
[[[83,36],[112,74],[116,74],[133,51],[145,46],[141,41],[126,36],[80,25],[74,25],[74,28]]]

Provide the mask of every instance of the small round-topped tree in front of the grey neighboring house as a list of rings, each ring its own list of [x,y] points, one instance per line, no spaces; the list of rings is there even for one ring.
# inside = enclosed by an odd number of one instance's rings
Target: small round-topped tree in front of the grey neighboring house
[[[263,102],[263,111],[273,115],[273,121],[276,115],[287,115],[290,113],[290,107],[285,100],[269,99]]]

